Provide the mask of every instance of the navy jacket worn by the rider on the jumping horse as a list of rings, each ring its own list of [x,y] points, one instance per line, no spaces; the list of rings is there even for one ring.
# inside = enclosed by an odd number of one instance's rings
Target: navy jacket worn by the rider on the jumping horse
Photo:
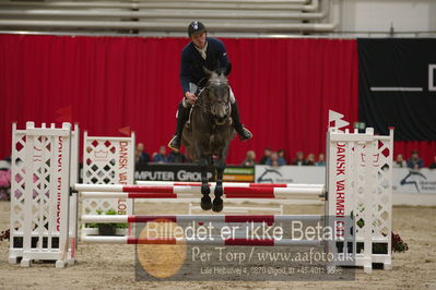
[[[232,67],[223,41],[211,37],[208,37],[207,41],[205,60],[192,43],[186,45],[181,50],[180,84],[184,89],[184,96],[186,92],[189,92],[189,83],[198,84],[201,78],[205,77],[202,67],[210,71],[220,69],[226,74],[231,71]]]

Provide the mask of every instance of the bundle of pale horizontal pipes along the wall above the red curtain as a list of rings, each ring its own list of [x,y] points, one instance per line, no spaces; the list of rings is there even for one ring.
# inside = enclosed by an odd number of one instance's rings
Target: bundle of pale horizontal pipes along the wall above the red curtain
[[[0,31],[184,34],[193,19],[216,34],[333,32],[338,0],[3,1]],[[334,7],[334,12],[332,12]]]

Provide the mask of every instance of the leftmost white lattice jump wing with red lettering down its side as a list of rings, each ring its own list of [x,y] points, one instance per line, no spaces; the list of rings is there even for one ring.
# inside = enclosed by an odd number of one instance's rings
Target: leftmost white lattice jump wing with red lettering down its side
[[[69,245],[71,125],[12,129],[11,239],[9,262],[56,261],[63,267]]]

